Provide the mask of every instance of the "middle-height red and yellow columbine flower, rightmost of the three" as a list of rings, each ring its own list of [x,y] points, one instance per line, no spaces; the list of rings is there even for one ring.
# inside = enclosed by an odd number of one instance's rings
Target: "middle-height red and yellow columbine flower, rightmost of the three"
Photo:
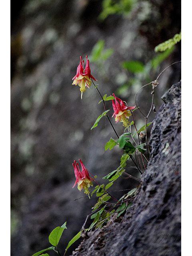
[[[128,126],[127,118],[131,116],[130,109],[134,109],[135,106],[134,107],[125,106],[124,102],[121,99],[117,98],[114,93],[113,93],[113,96],[115,98],[115,103],[114,103],[114,100],[112,100],[113,109],[114,109],[113,116],[115,116],[115,121],[116,123],[119,121],[123,122],[123,126],[127,127]]]

